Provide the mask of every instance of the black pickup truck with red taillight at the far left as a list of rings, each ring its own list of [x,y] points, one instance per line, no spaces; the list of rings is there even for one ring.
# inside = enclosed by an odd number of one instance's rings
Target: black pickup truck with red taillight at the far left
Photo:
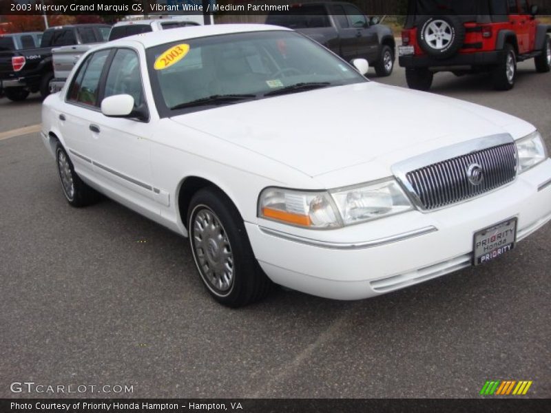
[[[10,100],[24,100],[30,92],[50,93],[54,77],[52,48],[83,43],[98,43],[109,36],[110,25],[76,24],[46,30],[40,47],[24,50],[0,50],[0,83]]]

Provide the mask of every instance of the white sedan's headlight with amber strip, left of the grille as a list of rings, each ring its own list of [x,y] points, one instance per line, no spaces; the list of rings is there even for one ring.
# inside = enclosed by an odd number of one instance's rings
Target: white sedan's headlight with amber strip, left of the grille
[[[267,188],[258,200],[260,218],[310,229],[335,229],[410,209],[393,178],[323,192]]]

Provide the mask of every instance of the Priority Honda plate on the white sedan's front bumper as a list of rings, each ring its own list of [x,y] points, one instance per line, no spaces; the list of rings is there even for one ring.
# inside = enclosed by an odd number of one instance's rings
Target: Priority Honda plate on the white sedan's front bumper
[[[486,264],[511,251],[517,242],[517,218],[500,222],[475,233],[475,265]]]

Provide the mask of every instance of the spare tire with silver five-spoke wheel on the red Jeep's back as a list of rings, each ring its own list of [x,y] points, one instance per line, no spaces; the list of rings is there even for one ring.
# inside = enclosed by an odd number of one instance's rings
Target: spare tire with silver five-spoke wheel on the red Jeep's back
[[[453,56],[464,40],[464,25],[455,16],[429,16],[417,26],[419,46],[437,59]]]

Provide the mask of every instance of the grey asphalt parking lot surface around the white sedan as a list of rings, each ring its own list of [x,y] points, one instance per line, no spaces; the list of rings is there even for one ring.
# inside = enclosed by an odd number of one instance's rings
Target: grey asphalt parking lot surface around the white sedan
[[[403,70],[382,82],[405,85]],[[453,74],[433,92],[524,118],[551,148],[551,74],[532,61],[510,92]],[[0,133],[39,122],[38,98],[0,100]],[[551,225],[487,266],[374,299],[278,289],[229,310],[185,239],[110,200],[68,206],[39,134],[0,140],[0,193],[0,397],[75,395],[10,391],[23,381],[133,385],[82,394],[107,397],[476,397],[490,379],[551,397]]]

